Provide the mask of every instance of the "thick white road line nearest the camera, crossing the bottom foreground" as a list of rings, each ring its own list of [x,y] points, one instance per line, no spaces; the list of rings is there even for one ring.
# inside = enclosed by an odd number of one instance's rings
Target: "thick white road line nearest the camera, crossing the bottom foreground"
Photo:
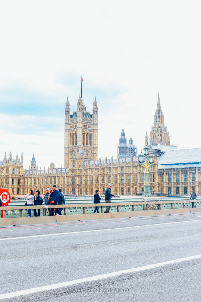
[[[193,259],[198,259],[198,258],[201,258],[201,254],[186,257],[186,258],[180,258],[180,259],[175,259],[175,260],[171,260],[171,261],[166,261],[166,262],[155,263],[155,264],[151,264],[151,265],[140,266],[137,268],[130,268],[130,269],[126,269],[123,271],[115,271],[115,272],[103,274],[103,275],[97,275],[97,276],[92,276],[92,277],[87,277],[87,278],[82,278],[82,279],[77,279],[77,280],[72,280],[72,281],[50,284],[50,285],[40,286],[40,287],[36,287],[36,288],[29,288],[29,289],[25,289],[22,291],[14,291],[11,293],[0,294],[0,300],[6,299],[6,298],[28,295],[28,294],[35,294],[40,291],[49,291],[49,290],[52,290],[55,288],[61,288],[64,286],[70,286],[70,285],[74,285],[74,284],[78,284],[78,283],[90,282],[90,281],[105,279],[105,278],[109,278],[109,277],[115,277],[115,276],[118,276],[121,274],[129,274],[129,273],[136,272],[136,271],[144,271],[144,270],[156,268],[159,266],[164,266],[164,265],[168,265],[168,264],[173,264],[173,263],[178,263],[178,262],[183,262],[183,261],[188,261],[188,260],[193,260]]]

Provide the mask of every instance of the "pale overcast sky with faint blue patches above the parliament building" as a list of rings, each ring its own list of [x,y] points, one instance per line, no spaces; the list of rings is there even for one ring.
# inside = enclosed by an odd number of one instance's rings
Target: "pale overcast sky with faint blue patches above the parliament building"
[[[98,102],[98,159],[143,148],[158,91],[171,144],[200,146],[200,1],[2,1],[0,159],[64,166],[64,108]]]

